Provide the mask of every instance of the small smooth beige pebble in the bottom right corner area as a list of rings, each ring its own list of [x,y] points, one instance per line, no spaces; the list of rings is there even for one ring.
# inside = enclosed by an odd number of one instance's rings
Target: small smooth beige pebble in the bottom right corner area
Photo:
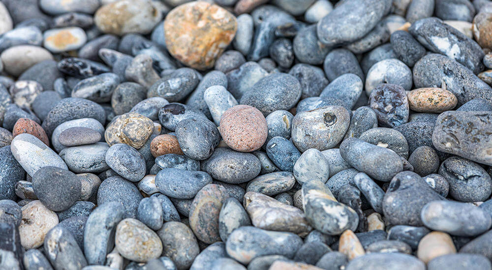
[[[420,240],[417,248],[417,257],[426,264],[436,257],[454,253],[456,247],[453,240],[443,232],[427,234]]]

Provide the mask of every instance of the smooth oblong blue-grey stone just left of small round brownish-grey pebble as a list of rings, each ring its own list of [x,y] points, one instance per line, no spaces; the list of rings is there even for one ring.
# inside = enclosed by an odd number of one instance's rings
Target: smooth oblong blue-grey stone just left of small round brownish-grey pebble
[[[403,170],[403,162],[395,152],[361,139],[345,139],[340,144],[340,155],[357,170],[384,182]]]

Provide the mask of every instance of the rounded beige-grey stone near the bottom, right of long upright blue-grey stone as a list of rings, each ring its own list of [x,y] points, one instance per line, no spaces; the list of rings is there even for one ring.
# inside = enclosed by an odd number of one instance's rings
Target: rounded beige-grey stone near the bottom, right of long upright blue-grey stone
[[[134,218],[118,223],[115,246],[123,257],[135,262],[148,262],[162,253],[162,242],[157,234]]]

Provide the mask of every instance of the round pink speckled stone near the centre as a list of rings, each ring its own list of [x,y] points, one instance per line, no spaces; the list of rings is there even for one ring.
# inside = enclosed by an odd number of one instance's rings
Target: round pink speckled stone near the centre
[[[263,113],[247,105],[227,109],[222,114],[218,129],[224,142],[240,152],[258,150],[268,135],[267,121]]]

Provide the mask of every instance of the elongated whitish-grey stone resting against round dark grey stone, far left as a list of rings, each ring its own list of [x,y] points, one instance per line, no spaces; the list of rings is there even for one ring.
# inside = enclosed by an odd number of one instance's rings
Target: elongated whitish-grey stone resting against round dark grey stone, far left
[[[15,159],[29,175],[44,166],[55,166],[67,170],[66,163],[41,140],[27,133],[17,135],[10,145]]]

